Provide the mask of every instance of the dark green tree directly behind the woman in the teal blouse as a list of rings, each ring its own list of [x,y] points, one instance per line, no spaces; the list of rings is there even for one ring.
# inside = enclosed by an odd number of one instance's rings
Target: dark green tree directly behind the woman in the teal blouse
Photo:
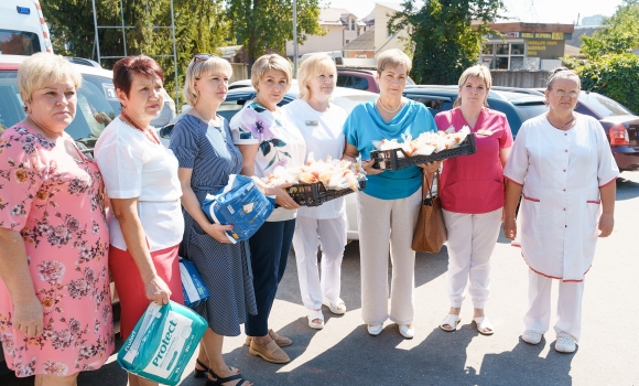
[[[411,77],[418,84],[456,84],[464,69],[479,60],[483,35],[495,33],[488,24],[503,10],[502,0],[429,0],[422,8],[407,0],[388,29],[408,31]]]

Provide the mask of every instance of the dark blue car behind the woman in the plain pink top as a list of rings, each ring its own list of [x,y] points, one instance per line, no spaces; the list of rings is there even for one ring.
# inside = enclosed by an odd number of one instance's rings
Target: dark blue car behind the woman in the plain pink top
[[[424,104],[435,116],[437,112],[453,108],[458,92],[458,86],[407,86],[403,95],[409,99]],[[548,109],[544,97],[541,95],[492,89],[488,93],[488,106],[506,114],[513,137],[517,136],[521,124]]]

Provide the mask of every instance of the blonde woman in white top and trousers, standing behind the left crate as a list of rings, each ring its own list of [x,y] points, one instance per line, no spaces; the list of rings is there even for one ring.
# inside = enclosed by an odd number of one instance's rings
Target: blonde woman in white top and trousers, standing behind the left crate
[[[297,73],[300,99],[283,110],[306,142],[306,160],[331,156],[342,159],[346,111],[329,101],[337,82],[337,68],[331,56],[314,54],[300,66]],[[322,279],[317,270],[317,237],[322,246]],[[344,199],[328,201],[316,207],[297,210],[293,248],[297,261],[297,278],[302,301],[307,309],[308,326],[324,328],[322,303],[333,313],[346,312],[339,298],[342,258],[346,246],[346,206]]]

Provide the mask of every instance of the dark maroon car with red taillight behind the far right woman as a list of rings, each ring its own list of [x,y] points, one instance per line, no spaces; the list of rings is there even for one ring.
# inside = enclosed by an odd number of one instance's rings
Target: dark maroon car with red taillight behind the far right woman
[[[528,95],[543,95],[544,88],[492,87]],[[597,119],[604,130],[619,171],[639,170],[639,116],[626,106],[593,92],[580,93],[575,111]]]

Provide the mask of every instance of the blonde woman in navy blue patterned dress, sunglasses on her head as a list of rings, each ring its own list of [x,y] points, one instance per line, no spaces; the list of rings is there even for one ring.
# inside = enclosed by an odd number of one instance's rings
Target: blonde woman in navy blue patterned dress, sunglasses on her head
[[[208,371],[207,384],[247,385],[239,369],[226,365],[221,346],[224,336],[240,334],[247,314],[257,313],[248,244],[230,244],[225,230],[232,226],[212,224],[201,207],[207,194],[217,193],[229,175],[239,174],[242,168],[228,121],[216,114],[226,99],[230,75],[230,64],[220,57],[193,57],[183,92],[193,108],[175,124],[169,148],[180,162],[183,191],[185,230],[180,256],[195,262],[210,292],[196,309],[209,329],[203,336],[194,375],[204,377]]]

